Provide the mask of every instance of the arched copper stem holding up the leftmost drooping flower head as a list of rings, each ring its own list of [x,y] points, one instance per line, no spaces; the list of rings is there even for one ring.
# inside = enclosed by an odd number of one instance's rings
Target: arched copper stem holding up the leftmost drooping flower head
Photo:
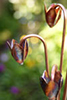
[[[27,38],[31,38],[31,37],[36,37],[36,38],[40,39],[40,40],[42,41],[43,45],[44,45],[46,71],[47,71],[47,73],[48,73],[48,75],[49,75],[49,65],[48,65],[47,46],[46,46],[46,43],[45,43],[44,39],[43,39],[41,36],[39,36],[39,35],[30,34],[30,35],[25,36],[25,37],[21,40],[20,44],[22,44],[22,42],[23,42],[24,40],[26,40]]]

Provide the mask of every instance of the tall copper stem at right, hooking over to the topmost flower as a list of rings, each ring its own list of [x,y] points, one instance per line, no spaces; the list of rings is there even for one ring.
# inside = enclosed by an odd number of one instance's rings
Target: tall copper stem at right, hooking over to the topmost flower
[[[63,54],[64,54],[64,41],[65,41],[65,32],[66,32],[66,13],[65,8],[62,4],[56,4],[56,7],[60,7],[64,15],[64,25],[63,25],[63,36],[62,36],[62,46],[61,46],[61,57],[60,57],[60,72],[62,72],[63,65]]]

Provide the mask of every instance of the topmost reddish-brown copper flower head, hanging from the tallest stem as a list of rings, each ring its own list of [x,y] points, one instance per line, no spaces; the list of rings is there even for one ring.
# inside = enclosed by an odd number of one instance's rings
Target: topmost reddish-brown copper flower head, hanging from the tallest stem
[[[52,4],[47,10],[46,5],[45,8],[45,17],[46,22],[50,27],[53,27],[61,17],[61,8],[56,4]]]

